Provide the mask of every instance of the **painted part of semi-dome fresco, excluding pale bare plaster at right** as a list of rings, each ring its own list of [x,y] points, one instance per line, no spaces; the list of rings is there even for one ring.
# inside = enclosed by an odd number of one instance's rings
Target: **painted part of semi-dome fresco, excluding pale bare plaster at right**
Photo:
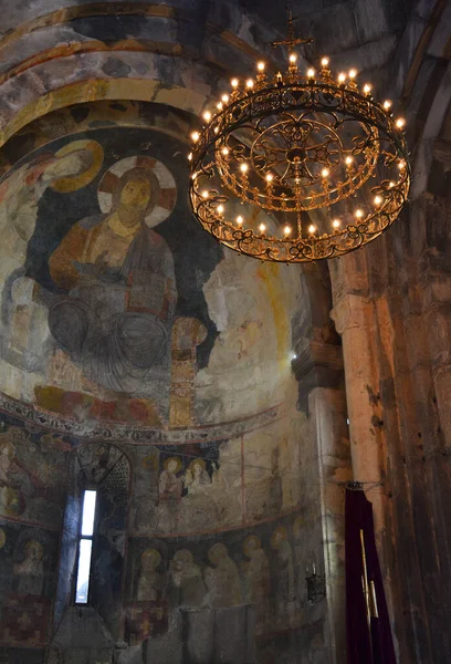
[[[4,179],[12,392],[71,417],[192,423],[193,375],[217,334],[201,289],[221,252],[190,217],[185,153],[151,129],[92,129]]]

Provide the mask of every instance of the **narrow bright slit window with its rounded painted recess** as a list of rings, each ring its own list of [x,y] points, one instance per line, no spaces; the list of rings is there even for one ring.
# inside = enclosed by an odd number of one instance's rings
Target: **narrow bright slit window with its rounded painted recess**
[[[55,621],[71,604],[90,605],[117,637],[129,461],[115,445],[82,445],[72,455],[70,476]]]

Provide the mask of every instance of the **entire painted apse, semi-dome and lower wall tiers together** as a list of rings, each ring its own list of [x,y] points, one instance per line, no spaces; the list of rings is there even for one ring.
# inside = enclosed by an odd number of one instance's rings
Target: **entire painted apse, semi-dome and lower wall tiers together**
[[[304,629],[306,532],[322,536],[300,481],[316,464],[291,367],[300,274],[201,229],[187,127],[159,114],[65,110],[7,146],[0,645],[12,662],[32,642],[36,663],[72,647],[86,486],[98,492],[90,601],[120,664],[216,652],[266,664]]]

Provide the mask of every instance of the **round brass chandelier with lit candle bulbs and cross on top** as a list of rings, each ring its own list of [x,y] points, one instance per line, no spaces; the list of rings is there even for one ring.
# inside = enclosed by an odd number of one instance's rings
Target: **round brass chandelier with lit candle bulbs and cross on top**
[[[343,256],[380,236],[407,201],[405,120],[391,102],[334,75],[302,73],[292,22],[285,74],[231,81],[191,134],[190,199],[203,228],[241,253],[276,262]],[[310,41],[310,40],[308,40]]]

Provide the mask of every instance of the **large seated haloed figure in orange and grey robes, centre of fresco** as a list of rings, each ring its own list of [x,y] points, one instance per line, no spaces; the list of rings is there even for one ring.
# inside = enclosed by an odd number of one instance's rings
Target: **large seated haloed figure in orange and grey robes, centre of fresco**
[[[50,331],[107,390],[134,393],[169,351],[174,260],[151,228],[168,216],[175,191],[159,162],[117,162],[99,185],[103,214],[75,224],[50,257],[50,274],[66,292],[49,311]]]

